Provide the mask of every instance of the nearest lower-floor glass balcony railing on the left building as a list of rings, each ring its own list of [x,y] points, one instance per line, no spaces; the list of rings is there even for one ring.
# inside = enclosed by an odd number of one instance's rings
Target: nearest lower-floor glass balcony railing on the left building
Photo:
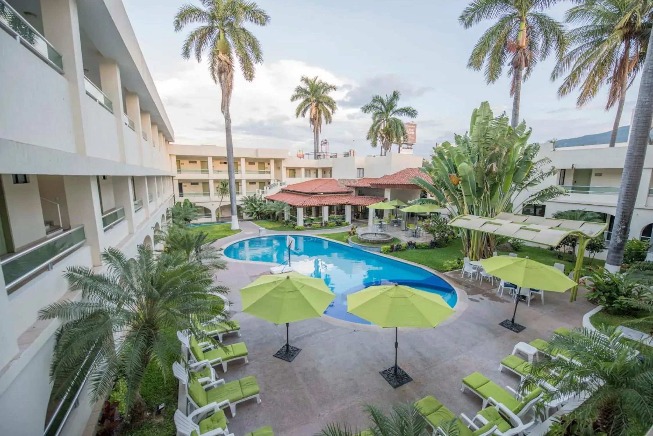
[[[84,226],[78,226],[1,260],[8,293],[27,278],[46,268],[52,269],[57,260],[84,245],[85,241]]]

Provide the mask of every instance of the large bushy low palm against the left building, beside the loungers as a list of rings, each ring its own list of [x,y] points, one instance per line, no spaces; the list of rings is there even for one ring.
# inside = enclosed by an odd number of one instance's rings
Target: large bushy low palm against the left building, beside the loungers
[[[187,261],[181,254],[157,256],[150,245],[139,245],[133,259],[116,248],[107,248],[101,257],[105,273],[69,267],[64,275],[71,290],[82,291],[81,301],[57,301],[39,312],[41,320],[65,322],[57,331],[50,366],[52,396],[61,399],[88,375],[95,403],[120,376],[127,384],[129,411],[150,363],[163,369],[182,360],[170,331],[196,332],[191,315],[198,322],[228,319],[223,299],[215,296],[228,288],[213,286],[211,265]]]

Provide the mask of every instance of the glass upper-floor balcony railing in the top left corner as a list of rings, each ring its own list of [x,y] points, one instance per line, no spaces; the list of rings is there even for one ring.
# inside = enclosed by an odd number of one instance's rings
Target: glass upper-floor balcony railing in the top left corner
[[[61,54],[5,0],[0,0],[0,27],[5,29],[9,35],[16,37],[50,67],[63,74]]]

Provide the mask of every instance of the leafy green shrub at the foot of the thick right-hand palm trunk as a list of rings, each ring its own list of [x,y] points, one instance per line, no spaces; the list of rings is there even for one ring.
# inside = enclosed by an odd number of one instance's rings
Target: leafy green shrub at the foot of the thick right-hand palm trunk
[[[648,292],[648,288],[639,280],[629,277],[628,274],[610,273],[605,268],[588,268],[591,287],[585,294],[587,299],[594,304],[605,307],[605,312],[610,314],[628,314],[633,311],[630,299],[639,299]],[[584,282],[581,280],[581,284]]]

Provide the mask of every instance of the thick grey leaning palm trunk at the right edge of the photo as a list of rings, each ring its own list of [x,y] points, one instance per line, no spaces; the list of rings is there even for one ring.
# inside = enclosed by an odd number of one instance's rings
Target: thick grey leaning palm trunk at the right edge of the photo
[[[653,32],[648,37],[648,49],[653,49]],[[613,273],[619,271],[624,258],[624,246],[626,246],[628,240],[630,220],[633,217],[633,209],[635,209],[635,199],[637,198],[639,180],[642,176],[652,118],[653,56],[647,56],[639,84],[639,93],[637,93],[635,116],[633,116],[633,123],[630,126],[626,162],[624,163],[624,173],[621,176],[619,197],[616,203],[613,236],[605,260],[605,268]]]

